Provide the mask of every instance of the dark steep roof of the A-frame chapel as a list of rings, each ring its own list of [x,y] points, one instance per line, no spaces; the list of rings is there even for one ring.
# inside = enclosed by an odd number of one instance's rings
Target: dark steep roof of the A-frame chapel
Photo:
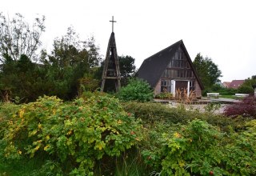
[[[138,78],[142,78],[146,80],[151,87],[155,87],[162,76],[164,70],[171,61],[171,58],[174,57],[174,54],[181,47],[186,54],[186,58],[190,63],[190,67],[193,70],[195,78],[197,78],[199,86],[203,89],[202,82],[198,78],[198,74],[194,70],[193,63],[191,61],[190,55],[188,54],[186,47],[182,40],[175,42],[173,45],[167,47],[164,50],[159,51],[158,53],[146,58],[144,62],[142,62],[142,66],[138,70]]]

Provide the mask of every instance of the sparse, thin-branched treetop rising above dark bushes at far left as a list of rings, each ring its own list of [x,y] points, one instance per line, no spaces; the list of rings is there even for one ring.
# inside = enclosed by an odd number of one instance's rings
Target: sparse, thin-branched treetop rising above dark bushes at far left
[[[18,61],[22,54],[37,59],[36,51],[41,46],[42,32],[45,31],[45,17],[35,18],[30,26],[24,21],[22,14],[15,14],[11,20],[0,13],[0,62],[6,58]]]

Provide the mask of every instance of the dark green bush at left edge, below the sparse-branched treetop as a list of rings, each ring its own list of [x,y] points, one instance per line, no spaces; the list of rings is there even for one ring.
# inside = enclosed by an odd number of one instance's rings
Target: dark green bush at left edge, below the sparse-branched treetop
[[[46,80],[41,68],[22,54],[18,61],[6,62],[0,72],[0,98],[5,102],[27,102],[43,94]],[[17,102],[17,101],[16,101]]]

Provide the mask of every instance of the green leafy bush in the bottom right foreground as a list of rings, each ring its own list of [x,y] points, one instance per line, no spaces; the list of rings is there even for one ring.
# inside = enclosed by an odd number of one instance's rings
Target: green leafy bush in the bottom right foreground
[[[194,120],[173,133],[163,133],[161,147],[143,150],[147,164],[161,175],[256,174],[256,121],[242,133],[222,133]]]

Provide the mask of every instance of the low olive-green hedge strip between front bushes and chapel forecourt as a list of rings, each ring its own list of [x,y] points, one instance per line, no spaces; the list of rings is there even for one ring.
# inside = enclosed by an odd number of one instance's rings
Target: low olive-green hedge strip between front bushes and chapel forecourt
[[[144,126],[151,126],[155,122],[166,124],[186,124],[195,118],[202,119],[213,126],[218,126],[222,130],[229,130],[232,126],[235,130],[242,130],[244,124],[252,118],[238,116],[237,118],[226,118],[222,114],[212,114],[210,112],[200,113],[198,110],[185,110],[183,106],[170,108],[157,102],[125,102],[123,106],[127,112],[134,114],[135,118],[141,118]]]

